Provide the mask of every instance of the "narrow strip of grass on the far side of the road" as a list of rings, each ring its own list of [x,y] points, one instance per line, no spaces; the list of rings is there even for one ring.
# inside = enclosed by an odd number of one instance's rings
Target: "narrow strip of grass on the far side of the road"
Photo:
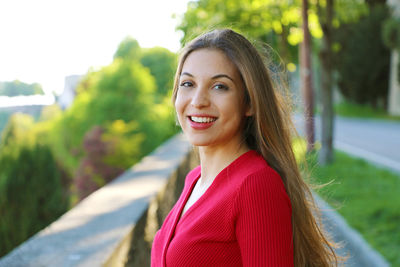
[[[386,119],[400,121],[400,116],[391,116],[384,109],[373,109],[367,105],[342,102],[335,105],[335,112],[343,117]]]

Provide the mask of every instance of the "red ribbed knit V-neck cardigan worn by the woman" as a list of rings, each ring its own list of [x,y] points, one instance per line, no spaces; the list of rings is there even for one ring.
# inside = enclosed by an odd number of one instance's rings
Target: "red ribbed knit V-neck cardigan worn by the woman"
[[[241,155],[180,218],[200,173],[187,175],[154,238],[151,266],[293,266],[290,200],[265,160]]]

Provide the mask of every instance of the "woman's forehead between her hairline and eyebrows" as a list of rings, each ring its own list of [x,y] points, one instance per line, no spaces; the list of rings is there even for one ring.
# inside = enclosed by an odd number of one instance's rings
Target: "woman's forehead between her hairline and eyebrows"
[[[227,74],[232,78],[239,77],[237,67],[222,51],[208,48],[191,52],[183,63],[181,73],[184,72],[194,76]]]

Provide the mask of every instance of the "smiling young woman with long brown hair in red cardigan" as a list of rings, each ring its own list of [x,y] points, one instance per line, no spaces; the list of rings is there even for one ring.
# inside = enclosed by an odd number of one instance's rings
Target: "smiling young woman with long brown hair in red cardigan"
[[[337,265],[293,155],[290,114],[254,46],[229,29],[197,37],[173,100],[200,166],[154,238],[151,265]]]

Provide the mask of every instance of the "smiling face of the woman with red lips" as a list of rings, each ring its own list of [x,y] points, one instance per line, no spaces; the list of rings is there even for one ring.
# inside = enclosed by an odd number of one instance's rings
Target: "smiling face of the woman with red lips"
[[[236,66],[216,49],[199,49],[186,58],[175,108],[182,130],[195,146],[238,149],[242,124],[250,112]]]

